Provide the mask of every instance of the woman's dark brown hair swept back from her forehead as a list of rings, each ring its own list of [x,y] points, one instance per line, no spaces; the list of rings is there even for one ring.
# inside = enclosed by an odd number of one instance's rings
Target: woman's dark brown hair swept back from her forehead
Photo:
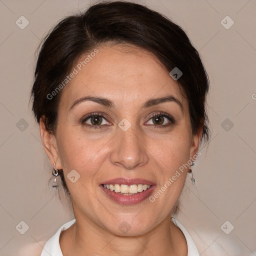
[[[205,98],[208,76],[197,50],[182,28],[143,5],[112,1],[90,6],[86,11],[60,20],[42,40],[31,90],[32,110],[37,122],[43,119],[48,132],[55,134],[60,90],[49,95],[70,72],[77,59],[105,42],[127,43],[153,53],[169,72],[182,71],[178,79],[188,100],[192,132],[202,127],[208,140]],[[69,194],[63,173],[62,185]]]

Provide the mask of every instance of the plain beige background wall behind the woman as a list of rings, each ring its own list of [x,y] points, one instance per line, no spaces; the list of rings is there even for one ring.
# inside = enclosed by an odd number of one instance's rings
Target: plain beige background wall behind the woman
[[[181,212],[176,218],[203,237],[201,255],[206,255],[214,244],[226,246],[227,255],[256,255],[256,2],[143,2],[187,32],[210,79],[208,114],[212,136],[193,167],[194,186],[187,177]],[[67,202],[61,203],[47,185],[51,166],[28,99],[34,52],[40,39],[60,18],[86,8],[88,3],[89,0],[0,0],[2,256],[17,255],[18,250],[32,243],[43,245],[43,240],[73,218]],[[29,21],[24,29],[15,24],[21,15]],[[229,29],[220,23],[226,15],[234,21]],[[21,126],[21,118],[27,127]],[[223,123],[226,118],[229,120]],[[29,226],[23,235],[15,228],[21,220]],[[226,220],[234,226],[229,234],[220,228]],[[231,253],[234,247],[238,249]]]

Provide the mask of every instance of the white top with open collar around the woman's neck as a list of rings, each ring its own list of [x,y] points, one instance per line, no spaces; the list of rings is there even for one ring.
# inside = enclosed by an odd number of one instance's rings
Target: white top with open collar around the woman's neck
[[[184,226],[178,222],[175,218],[171,218],[172,222],[179,227],[179,229],[182,231],[182,233],[185,236],[186,243],[187,243],[187,256],[199,256],[199,252],[194,244],[194,241],[192,240],[189,233],[186,231]],[[70,227],[75,222],[75,218],[66,222],[63,224],[57,232],[45,243],[41,256],[63,256],[60,245],[59,245],[59,235],[60,232]]]

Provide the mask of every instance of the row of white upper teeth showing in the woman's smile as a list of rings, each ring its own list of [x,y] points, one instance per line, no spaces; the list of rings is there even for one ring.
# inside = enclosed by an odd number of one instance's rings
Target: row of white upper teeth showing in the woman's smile
[[[124,185],[124,184],[103,184],[104,188],[107,188],[110,191],[115,191],[120,194],[136,194],[137,192],[142,192],[148,189],[151,185],[146,184],[134,184],[134,185]]]

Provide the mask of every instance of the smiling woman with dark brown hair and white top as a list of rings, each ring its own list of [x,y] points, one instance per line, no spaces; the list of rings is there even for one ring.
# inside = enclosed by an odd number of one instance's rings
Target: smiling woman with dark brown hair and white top
[[[199,255],[171,213],[208,139],[207,91],[185,32],[145,6],[105,2],[61,20],[31,96],[75,219],[41,255]]]

